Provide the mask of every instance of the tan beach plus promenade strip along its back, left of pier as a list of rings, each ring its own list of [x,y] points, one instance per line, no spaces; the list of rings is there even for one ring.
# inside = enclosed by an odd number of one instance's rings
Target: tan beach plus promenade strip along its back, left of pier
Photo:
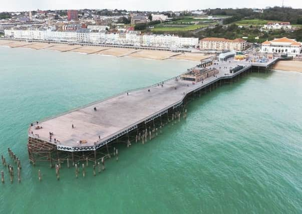
[[[7,46],[10,48],[29,48],[34,50],[51,50],[58,52],[75,52],[82,54],[94,54],[115,57],[134,57],[153,60],[173,59],[189,60],[195,62],[200,62],[200,60],[211,56],[204,53],[190,53],[191,49],[179,49],[175,51],[168,48],[90,43],[68,43],[8,38],[0,38],[0,46]]]

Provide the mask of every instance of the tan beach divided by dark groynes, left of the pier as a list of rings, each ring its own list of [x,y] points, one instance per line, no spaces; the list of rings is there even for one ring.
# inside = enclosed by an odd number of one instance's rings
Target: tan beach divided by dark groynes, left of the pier
[[[158,50],[137,50],[131,48],[99,47],[99,46],[70,46],[66,44],[48,44],[48,43],[27,43],[19,41],[0,40],[0,46],[7,48],[27,48],[31,50],[50,50],[58,52],[73,52],[85,55],[102,55],[114,57],[133,57],[137,59],[149,60],[185,60],[190,62],[200,62],[213,55],[202,53],[175,53],[171,51]]]

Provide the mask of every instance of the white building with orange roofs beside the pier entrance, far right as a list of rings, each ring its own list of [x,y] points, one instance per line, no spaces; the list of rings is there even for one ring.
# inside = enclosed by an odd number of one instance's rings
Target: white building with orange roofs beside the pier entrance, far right
[[[275,53],[275,54],[287,54],[289,56],[296,56],[301,54],[302,44],[294,39],[288,39],[286,37],[280,39],[274,39],[271,41],[265,41],[262,43],[262,53]]]

